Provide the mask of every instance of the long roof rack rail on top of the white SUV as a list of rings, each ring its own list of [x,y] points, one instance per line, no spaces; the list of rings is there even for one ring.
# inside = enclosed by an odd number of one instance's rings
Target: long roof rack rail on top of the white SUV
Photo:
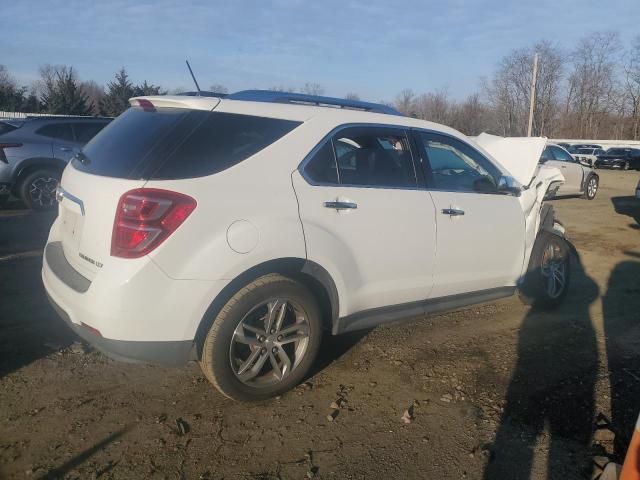
[[[385,113],[387,115],[402,115],[395,108],[381,103],[362,102],[360,100],[346,100],[344,98],[323,97],[321,95],[307,95],[304,93],[277,92],[272,90],[242,90],[226,96],[228,100],[245,100],[250,102],[293,103],[298,105],[317,105],[321,107],[345,108],[349,110],[363,110],[365,112]]]

